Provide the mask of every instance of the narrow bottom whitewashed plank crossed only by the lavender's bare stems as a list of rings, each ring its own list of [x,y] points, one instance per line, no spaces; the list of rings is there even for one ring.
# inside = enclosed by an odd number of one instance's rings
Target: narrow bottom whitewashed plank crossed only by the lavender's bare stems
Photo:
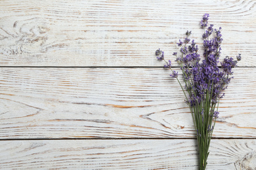
[[[5,169],[198,169],[196,140],[0,141]],[[256,139],[212,140],[207,169],[255,169]]]

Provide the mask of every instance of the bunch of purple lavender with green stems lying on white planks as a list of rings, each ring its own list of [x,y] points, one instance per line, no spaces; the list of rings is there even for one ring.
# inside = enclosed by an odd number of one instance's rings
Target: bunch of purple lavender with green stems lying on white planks
[[[177,63],[181,67],[184,88],[178,78],[178,72],[171,67],[171,61],[166,61],[164,52],[156,50],[156,56],[159,60],[165,61],[165,68],[171,69],[173,78],[177,78],[179,85],[186,97],[186,103],[190,108],[194,126],[196,128],[198,151],[199,151],[199,169],[205,169],[209,155],[209,145],[215,122],[219,117],[219,100],[224,97],[223,91],[227,88],[232,77],[232,68],[241,60],[241,55],[236,56],[237,60],[226,56],[219,63],[221,55],[221,27],[214,29],[213,25],[208,26],[209,14],[204,14],[200,22],[203,29],[203,60],[200,61],[198,54],[198,45],[192,40],[190,42],[191,31],[186,31],[186,38],[179,40],[181,55],[177,52]],[[211,37],[212,36],[212,37]]]

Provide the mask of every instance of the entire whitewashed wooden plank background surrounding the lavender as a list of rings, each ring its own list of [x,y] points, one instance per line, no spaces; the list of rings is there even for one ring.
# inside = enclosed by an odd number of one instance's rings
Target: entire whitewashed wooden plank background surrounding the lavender
[[[255,0],[1,0],[1,169],[197,169],[172,53],[199,22],[242,54],[221,101],[207,169],[256,169]]]

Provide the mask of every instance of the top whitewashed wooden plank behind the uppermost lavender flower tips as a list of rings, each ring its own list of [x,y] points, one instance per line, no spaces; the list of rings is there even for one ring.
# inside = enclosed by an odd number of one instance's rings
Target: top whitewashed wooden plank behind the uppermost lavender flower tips
[[[160,66],[187,29],[202,45],[202,15],[223,27],[224,56],[255,66],[256,5],[238,1],[0,1],[0,65]],[[175,7],[175,8],[173,8]]]

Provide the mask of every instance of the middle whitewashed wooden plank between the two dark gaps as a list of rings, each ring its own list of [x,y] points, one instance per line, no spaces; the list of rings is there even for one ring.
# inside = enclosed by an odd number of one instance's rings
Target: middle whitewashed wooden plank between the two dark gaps
[[[194,137],[166,69],[1,68],[0,138]],[[256,69],[234,69],[215,137],[256,137]]]

